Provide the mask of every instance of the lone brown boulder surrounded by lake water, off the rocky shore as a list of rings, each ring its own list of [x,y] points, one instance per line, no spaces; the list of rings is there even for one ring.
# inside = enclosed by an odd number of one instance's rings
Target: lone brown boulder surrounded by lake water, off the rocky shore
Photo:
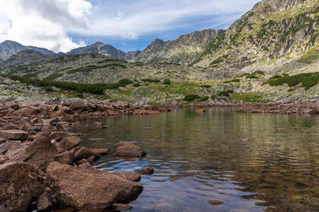
[[[123,157],[144,157],[146,153],[134,143],[121,141],[116,147],[115,155]]]

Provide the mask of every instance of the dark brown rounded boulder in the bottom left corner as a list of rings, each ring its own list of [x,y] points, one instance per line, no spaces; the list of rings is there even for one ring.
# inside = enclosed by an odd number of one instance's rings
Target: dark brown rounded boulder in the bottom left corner
[[[0,211],[26,211],[45,189],[42,177],[40,170],[27,163],[0,165]]]

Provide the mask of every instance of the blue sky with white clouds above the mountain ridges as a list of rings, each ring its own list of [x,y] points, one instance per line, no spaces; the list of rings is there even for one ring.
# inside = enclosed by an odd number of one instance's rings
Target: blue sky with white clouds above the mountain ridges
[[[124,52],[156,38],[227,29],[260,0],[0,0],[0,42],[69,52],[103,42]]]

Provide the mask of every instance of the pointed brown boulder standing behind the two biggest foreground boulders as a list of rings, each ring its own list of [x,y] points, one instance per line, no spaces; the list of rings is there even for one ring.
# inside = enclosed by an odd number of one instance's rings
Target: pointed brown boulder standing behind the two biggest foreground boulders
[[[50,139],[42,136],[33,141],[24,151],[14,155],[8,162],[24,161],[45,172],[47,165],[55,162],[55,155],[57,155],[55,145],[51,143]]]

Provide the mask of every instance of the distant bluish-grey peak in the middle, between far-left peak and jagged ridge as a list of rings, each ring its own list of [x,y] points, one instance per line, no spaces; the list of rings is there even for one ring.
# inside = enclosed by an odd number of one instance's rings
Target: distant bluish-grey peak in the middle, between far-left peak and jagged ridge
[[[113,57],[117,59],[125,59],[126,53],[122,52],[119,49],[111,45],[105,45],[102,42],[96,42],[94,45],[90,45],[87,47],[79,47],[77,49],[72,49],[67,54],[90,54],[90,53],[98,53],[105,55],[107,57]]]

